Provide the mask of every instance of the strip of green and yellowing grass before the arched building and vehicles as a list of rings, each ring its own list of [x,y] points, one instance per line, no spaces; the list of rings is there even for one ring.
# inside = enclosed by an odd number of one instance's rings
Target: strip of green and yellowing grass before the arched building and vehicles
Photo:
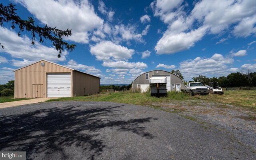
[[[152,102],[173,102],[184,100],[193,100],[193,102],[206,101],[206,102],[218,102],[222,104],[231,104],[238,107],[250,108],[256,110],[256,90],[236,90],[225,91],[224,95],[210,94],[206,96],[189,96],[189,94],[183,92],[168,92],[166,97],[154,97],[149,93],[131,93],[131,92],[114,92],[95,94],[91,96],[77,96],[71,98],[59,98],[48,101],[60,101],[60,100],[78,100],[78,101],[109,101],[120,102],[136,105],[148,105]]]

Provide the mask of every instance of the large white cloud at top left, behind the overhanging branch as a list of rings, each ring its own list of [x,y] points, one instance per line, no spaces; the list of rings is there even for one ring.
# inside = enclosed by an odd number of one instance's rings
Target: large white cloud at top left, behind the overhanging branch
[[[88,43],[90,32],[101,29],[104,20],[95,12],[88,0],[15,0],[22,4],[43,24],[66,30],[72,29],[72,36],[65,40]],[[53,12],[54,11],[54,12]]]

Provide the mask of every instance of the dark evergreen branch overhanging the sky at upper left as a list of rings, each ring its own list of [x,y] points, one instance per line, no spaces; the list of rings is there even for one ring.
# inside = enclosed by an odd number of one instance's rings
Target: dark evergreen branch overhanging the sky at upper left
[[[56,27],[48,27],[47,24],[44,27],[40,27],[38,25],[35,26],[34,19],[32,17],[28,17],[28,20],[22,20],[17,14],[15,5],[9,4],[9,6],[4,6],[0,3],[0,26],[3,26],[4,23],[10,24],[11,28],[14,29],[16,26],[20,29],[18,32],[18,36],[20,36],[20,32],[24,32],[24,30],[31,32],[32,34],[32,42],[31,44],[35,44],[36,35],[39,36],[39,42],[43,43],[44,39],[50,40],[52,45],[55,46],[55,49],[59,51],[58,58],[61,57],[62,51],[66,48],[66,50],[74,50],[76,47],[75,44],[68,44],[63,41],[63,37],[71,36],[71,30],[59,30]],[[0,43],[0,46],[4,49],[4,46]]]

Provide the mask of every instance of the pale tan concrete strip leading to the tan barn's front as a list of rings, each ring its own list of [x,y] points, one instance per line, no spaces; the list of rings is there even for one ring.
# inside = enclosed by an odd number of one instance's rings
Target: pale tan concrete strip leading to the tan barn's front
[[[56,99],[56,98],[35,98],[35,99],[30,99],[30,100],[18,100],[14,102],[5,102],[5,103],[0,103],[0,108],[7,108],[7,107],[13,107],[13,106],[21,106],[25,104],[33,104],[33,103],[39,103],[39,102],[45,102],[46,100],[50,99]]]

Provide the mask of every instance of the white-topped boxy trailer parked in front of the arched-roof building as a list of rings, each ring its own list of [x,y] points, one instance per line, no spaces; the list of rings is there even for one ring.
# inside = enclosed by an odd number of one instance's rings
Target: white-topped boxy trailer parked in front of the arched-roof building
[[[149,78],[151,94],[166,94],[167,77],[150,77]]]

